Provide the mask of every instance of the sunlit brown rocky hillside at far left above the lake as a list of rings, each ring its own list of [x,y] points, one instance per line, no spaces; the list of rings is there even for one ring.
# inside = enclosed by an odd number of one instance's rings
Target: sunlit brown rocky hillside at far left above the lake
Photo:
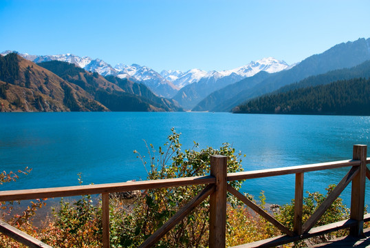
[[[0,111],[108,111],[77,85],[21,58],[0,56]]]

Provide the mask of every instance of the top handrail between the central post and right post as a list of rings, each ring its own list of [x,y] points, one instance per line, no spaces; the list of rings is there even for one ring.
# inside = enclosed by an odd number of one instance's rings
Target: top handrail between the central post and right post
[[[228,174],[228,181],[231,180],[243,180],[252,178],[263,178],[268,176],[281,176],[287,174],[297,174],[305,172],[314,172],[322,169],[336,169],[340,167],[350,167],[360,165],[360,161],[347,160],[347,161],[335,161],[327,163],[317,163],[312,165],[298,165],[283,168],[274,169],[259,169],[250,172],[235,172]]]

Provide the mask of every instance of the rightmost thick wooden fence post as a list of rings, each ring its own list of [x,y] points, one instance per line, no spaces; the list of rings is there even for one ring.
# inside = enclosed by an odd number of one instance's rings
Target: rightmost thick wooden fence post
[[[367,145],[353,145],[353,160],[361,161],[360,171],[352,180],[351,219],[358,224],[349,229],[351,236],[363,236],[364,227],[364,197],[366,180]]]

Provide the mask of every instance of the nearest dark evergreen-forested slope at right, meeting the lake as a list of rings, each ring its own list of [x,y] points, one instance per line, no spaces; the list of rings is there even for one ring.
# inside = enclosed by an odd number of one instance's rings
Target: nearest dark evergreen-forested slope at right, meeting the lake
[[[370,79],[349,79],[269,94],[239,105],[233,112],[370,115]]]

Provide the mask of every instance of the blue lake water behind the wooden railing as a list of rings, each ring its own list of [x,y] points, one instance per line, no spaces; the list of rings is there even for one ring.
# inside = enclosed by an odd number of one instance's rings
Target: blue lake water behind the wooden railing
[[[303,116],[197,112],[0,113],[0,170],[32,168],[17,183],[0,190],[30,189],[144,180],[146,171],[133,154],[147,143],[163,145],[171,127],[181,132],[183,149],[232,144],[246,154],[245,170],[351,159],[355,144],[370,144],[370,116]],[[368,157],[370,155],[368,154]],[[305,174],[305,191],[325,192],[346,168]],[[349,190],[342,193],[349,204]],[[294,175],[248,180],[241,191],[268,203],[294,198]],[[367,200],[370,203],[370,186]]]

